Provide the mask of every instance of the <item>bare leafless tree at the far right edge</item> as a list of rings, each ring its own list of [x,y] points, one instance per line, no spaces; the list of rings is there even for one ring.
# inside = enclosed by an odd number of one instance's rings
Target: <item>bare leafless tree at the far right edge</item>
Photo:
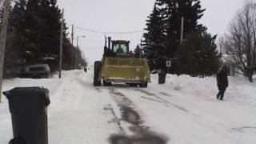
[[[230,22],[229,33],[223,39],[222,45],[229,55],[226,61],[237,66],[252,82],[256,65],[256,2],[245,2]]]

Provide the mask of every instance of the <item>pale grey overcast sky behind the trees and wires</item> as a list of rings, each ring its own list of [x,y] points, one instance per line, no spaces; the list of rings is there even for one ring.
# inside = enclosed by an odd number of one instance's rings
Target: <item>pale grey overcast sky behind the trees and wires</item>
[[[227,30],[230,20],[242,7],[244,0],[202,0],[206,8],[200,22],[208,27],[211,34],[221,36]],[[154,6],[154,0],[58,0],[60,8],[65,9],[68,26],[71,25],[101,32],[127,32],[143,30],[146,27],[147,15]],[[86,58],[92,64],[102,58],[104,34],[86,30],[75,30],[75,40],[78,35],[78,45]],[[131,48],[140,42],[142,32],[135,34],[106,34],[114,39],[127,39]]]

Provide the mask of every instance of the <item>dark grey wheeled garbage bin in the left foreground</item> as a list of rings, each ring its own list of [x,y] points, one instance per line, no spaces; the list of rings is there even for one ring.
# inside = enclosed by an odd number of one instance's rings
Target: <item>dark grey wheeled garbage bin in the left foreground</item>
[[[9,101],[14,138],[22,138],[26,144],[48,144],[49,90],[17,87],[3,94]]]

